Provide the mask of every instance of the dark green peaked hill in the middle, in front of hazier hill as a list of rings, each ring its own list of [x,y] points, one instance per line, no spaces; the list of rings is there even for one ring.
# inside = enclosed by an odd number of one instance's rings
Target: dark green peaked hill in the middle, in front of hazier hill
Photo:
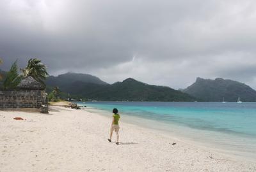
[[[148,85],[132,78],[111,85],[77,81],[60,89],[100,101],[195,101],[194,97],[170,87]]]

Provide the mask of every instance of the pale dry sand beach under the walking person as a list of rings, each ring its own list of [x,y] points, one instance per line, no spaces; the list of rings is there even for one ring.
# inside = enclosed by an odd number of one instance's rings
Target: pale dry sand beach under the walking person
[[[58,106],[49,115],[0,111],[0,171],[256,171],[253,161],[126,124],[122,118],[120,145],[109,143],[110,124],[111,112],[107,118]]]

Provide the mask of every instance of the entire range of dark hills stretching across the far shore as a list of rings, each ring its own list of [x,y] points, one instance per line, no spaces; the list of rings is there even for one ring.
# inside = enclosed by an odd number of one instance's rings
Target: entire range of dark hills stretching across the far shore
[[[6,74],[1,69],[0,73]],[[195,83],[179,90],[149,85],[134,78],[109,84],[97,76],[83,73],[49,76],[45,83],[47,92],[58,86],[67,93],[65,95],[102,101],[223,101],[223,97],[231,102],[237,101],[238,97],[241,101],[256,101],[256,90],[244,83],[223,78],[211,80],[197,77]]]

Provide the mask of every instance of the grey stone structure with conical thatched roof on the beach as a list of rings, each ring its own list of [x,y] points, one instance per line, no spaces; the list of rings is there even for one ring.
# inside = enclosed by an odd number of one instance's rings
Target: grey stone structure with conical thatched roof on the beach
[[[0,109],[20,108],[48,113],[45,85],[28,76],[21,80],[17,90],[0,91]]]

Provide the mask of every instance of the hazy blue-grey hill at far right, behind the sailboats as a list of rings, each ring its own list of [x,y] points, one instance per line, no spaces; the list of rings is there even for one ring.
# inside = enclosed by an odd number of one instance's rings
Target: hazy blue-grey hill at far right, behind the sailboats
[[[184,89],[183,92],[203,101],[237,101],[240,97],[244,102],[255,102],[256,91],[248,85],[233,80],[216,78],[215,80],[196,78],[196,82]]]

